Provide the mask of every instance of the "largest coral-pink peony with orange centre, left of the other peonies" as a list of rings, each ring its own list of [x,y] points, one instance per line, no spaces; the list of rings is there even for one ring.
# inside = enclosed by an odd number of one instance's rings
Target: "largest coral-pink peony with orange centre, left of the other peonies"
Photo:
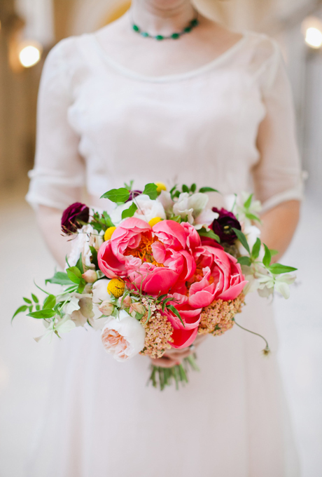
[[[99,268],[109,278],[129,278],[149,295],[169,293],[178,280],[189,280],[195,274],[195,259],[186,243],[185,228],[173,220],[151,228],[132,217],[99,248]]]

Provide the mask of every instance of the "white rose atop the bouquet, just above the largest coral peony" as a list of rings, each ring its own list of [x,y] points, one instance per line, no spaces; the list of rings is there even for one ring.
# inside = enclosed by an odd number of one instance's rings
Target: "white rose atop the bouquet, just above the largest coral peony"
[[[127,210],[128,208],[130,208],[130,206],[132,206],[132,203],[133,201],[123,203],[122,206],[117,206],[114,210],[112,210],[110,216],[113,224],[117,226],[123,221],[123,210]],[[165,209],[163,208],[162,203],[160,201],[153,201],[150,199],[149,196],[141,194],[140,196],[136,197],[135,203],[138,206],[138,209],[134,213],[133,217],[145,220],[146,222],[150,222],[150,220],[154,219],[155,217],[160,217],[161,219],[167,218],[165,215]]]

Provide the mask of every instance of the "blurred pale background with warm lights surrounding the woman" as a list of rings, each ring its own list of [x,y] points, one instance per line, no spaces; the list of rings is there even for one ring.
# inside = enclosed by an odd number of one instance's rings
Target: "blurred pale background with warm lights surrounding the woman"
[[[196,4],[233,29],[274,36],[286,60],[307,181],[300,226],[283,258],[299,268],[297,286],[288,302],[276,298],[274,306],[302,476],[321,477],[322,0]],[[17,300],[29,295],[33,278],[41,283],[55,267],[24,199],[34,161],[41,69],[57,41],[99,29],[129,6],[127,0],[0,0],[0,477],[25,476],[48,405],[55,353],[55,344],[32,340],[42,330],[32,318],[10,325]]]

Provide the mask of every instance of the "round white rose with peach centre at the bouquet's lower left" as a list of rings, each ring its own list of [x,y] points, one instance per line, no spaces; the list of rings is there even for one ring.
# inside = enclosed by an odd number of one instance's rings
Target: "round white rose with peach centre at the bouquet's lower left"
[[[107,318],[102,330],[102,343],[106,353],[112,354],[116,361],[133,358],[144,349],[146,332],[125,310],[118,318]]]

